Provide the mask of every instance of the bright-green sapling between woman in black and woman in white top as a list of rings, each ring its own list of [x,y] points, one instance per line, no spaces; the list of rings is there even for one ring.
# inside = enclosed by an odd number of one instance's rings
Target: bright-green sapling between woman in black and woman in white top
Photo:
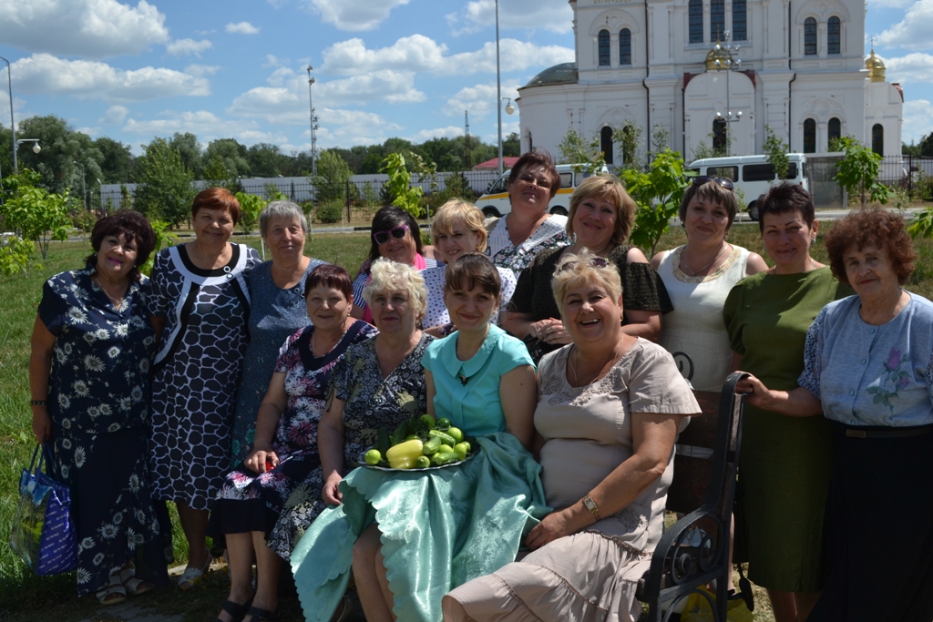
[[[661,236],[670,228],[671,218],[680,209],[687,179],[684,159],[670,149],[664,149],[648,165],[648,173],[625,169],[622,183],[629,195],[638,203],[635,225],[630,240],[643,249],[651,249],[654,256]]]

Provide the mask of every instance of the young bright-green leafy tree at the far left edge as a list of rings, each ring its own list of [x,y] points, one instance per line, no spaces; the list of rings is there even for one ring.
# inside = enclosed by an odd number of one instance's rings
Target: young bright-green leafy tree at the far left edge
[[[3,186],[12,191],[12,197],[0,206],[0,215],[3,215],[5,228],[12,229],[21,241],[37,242],[42,258],[46,259],[49,242],[68,239],[70,197],[67,190],[63,194],[52,194],[37,187],[40,180],[41,175],[29,169],[7,176]],[[22,266],[23,270],[25,268]]]

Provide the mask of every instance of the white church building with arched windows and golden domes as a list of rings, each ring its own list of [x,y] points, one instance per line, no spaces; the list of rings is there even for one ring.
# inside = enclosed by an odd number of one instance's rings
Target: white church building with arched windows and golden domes
[[[766,126],[793,152],[826,152],[833,137],[853,135],[883,156],[900,153],[903,91],[884,81],[873,50],[863,55],[863,0],[570,6],[577,60],[519,89],[522,152],[556,154],[572,128],[599,135],[606,161],[620,165],[611,134],[632,123],[643,140],[666,128],[687,161],[698,145],[723,145],[727,125],[736,156],[761,153]]]

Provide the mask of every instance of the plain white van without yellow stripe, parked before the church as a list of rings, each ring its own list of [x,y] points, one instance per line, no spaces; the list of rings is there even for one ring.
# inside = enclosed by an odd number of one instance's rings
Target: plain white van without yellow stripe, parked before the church
[[[800,184],[804,190],[809,192],[810,182],[807,179],[806,156],[801,153],[788,153],[787,159],[790,162],[787,166],[787,177],[784,179]],[[691,162],[687,168],[699,175],[731,179],[735,187],[742,189],[745,202],[748,204],[748,215],[752,220],[758,220],[758,201],[761,195],[779,181],[774,173],[774,167],[768,163],[765,156],[698,159]]]

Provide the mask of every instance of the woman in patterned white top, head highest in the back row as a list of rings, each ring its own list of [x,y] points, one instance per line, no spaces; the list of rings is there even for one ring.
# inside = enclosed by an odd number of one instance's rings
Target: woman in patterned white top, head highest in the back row
[[[512,211],[487,229],[486,255],[496,266],[518,275],[538,252],[566,246],[567,217],[548,214],[548,203],[560,187],[561,175],[547,151],[529,151],[515,162],[508,175]]]

